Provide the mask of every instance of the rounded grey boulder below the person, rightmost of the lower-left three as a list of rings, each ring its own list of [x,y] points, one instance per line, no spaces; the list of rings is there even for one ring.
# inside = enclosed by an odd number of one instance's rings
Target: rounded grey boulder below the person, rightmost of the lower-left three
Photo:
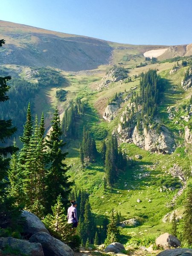
[[[40,243],[43,247],[44,256],[73,256],[73,250],[60,240],[47,233],[39,232],[29,239],[30,243]]]

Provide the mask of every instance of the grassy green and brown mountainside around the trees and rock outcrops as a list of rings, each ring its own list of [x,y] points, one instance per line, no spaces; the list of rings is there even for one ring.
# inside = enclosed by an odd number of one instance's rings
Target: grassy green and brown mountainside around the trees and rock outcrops
[[[35,84],[40,77],[32,76],[35,70],[34,65],[50,66],[53,73],[58,72],[58,76],[64,79],[58,84],[50,82],[46,86],[41,85],[38,93],[31,99],[33,114],[37,113],[40,117],[42,111],[44,112],[47,130],[50,128],[50,119],[55,104],[58,105],[61,119],[64,110],[69,107],[70,102],[75,102],[77,97],[86,105],[83,116],[78,119],[78,138],[67,141],[65,150],[69,154],[66,162],[71,166],[70,180],[74,181],[77,189],[84,189],[90,194],[90,204],[96,215],[97,223],[101,223],[102,216],[109,216],[111,209],[114,208],[115,211],[121,212],[123,220],[137,218],[140,221],[138,227],[120,228],[124,243],[134,236],[141,238],[149,233],[157,236],[160,233],[170,232],[169,218],[164,223],[163,217],[174,209],[177,209],[178,215],[182,215],[184,200],[184,193],[177,196],[184,183],[178,177],[172,177],[170,168],[177,164],[183,170],[187,182],[191,179],[192,149],[191,145],[186,145],[184,141],[184,127],[187,122],[180,118],[182,115],[186,116],[184,106],[192,95],[192,88],[185,91],[180,83],[186,69],[192,64],[191,57],[186,57],[189,64],[187,67],[181,66],[183,58],[176,61],[175,59],[157,61],[154,64],[146,61],[146,66],[136,67],[141,62],[145,63],[143,56],[145,51],[162,49],[163,46],[116,44],[13,23],[9,24],[9,29],[6,30],[7,23],[0,21],[0,24],[2,25],[0,32],[7,40],[6,48],[0,52],[4,61],[1,73],[6,70],[15,78]],[[52,47],[53,44],[55,48]],[[66,55],[67,52],[70,54]],[[18,62],[17,54],[23,56],[21,62]],[[48,55],[50,58],[47,58]],[[60,58],[63,60],[61,61]],[[180,68],[177,72],[170,74],[170,70],[177,65],[177,61]],[[128,79],[111,81],[99,90],[98,86],[102,84],[103,77],[113,65],[128,68],[128,78],[131,78],[131,81]],[[55,70],[54,67],[58,69]],[[100,154],[102,140],[107,138],[107,134],[116,130],[122,111],[125,110],[130,99],[127,102],[122,100],[119,111],[111,122],[106,122],[102,115],[108,105],[108,100],[115,93],[123,93],[122,98],[125,99],[133,88],[135,88],[134,91],[139,92],[139,75],[149,69],[156,69],[165,81],[164,98],[158,106],[158,118],[174,134],[177,148],[173,154],[157,154],[138,148],[133,143],[122,143],[119,140],[119,146],[129,159],[134,160],[134,164],[128,165],[125,172],[120,173],[115,185],[105,190],[103,185],[105,165]],[[56,98],[56,92],[61,89],[67,91],[64,102]],[[27,104],[28,102],[26,106]],[[172,119],[169,119],[167,111],[169,107],[174,107],[172,113],[175,116]],[[89,127],[96,140],[99,156],[95,163],[81,168],[79,143],[82,140],[84,125]],[[140,154],[142,159],[135,158],[137,154]],[[161,191],[160,188],[163,186],[165,189]],[[175,187],[175,190],[169,189],[171,187]],[[176,199],[172,201],[174,197]],[[140,203],[137,199],[140,199]],[[179,222],[179,230],[181,228],[182,220]]]

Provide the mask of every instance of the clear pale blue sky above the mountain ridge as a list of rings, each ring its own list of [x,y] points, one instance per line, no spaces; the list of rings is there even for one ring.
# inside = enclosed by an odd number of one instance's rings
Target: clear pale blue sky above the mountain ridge
[[[4,0],[0,20],[126,44],[192,43],[192,0]]]

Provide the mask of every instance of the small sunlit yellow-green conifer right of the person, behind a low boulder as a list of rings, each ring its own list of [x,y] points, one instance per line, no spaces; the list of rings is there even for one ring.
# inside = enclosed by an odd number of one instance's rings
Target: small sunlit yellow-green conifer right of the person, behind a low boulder
[[[108,224],[107,238],[105,239],[105,245],[109,245],[113,242],[119,241],[119,230],[116,227],[116,218],[114,216],[114,210],[112,209],[110,221]]]

